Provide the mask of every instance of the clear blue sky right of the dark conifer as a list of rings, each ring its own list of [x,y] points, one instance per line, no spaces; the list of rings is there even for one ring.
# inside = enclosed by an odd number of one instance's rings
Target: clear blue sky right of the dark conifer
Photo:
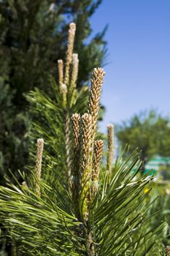
[[[93,32],[109,25],[101,130],[156,108],[170,113],[170,0],[103,0]]]

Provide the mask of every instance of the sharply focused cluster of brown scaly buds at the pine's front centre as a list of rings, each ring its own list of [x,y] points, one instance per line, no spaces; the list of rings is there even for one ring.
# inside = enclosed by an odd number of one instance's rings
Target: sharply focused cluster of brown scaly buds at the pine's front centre
[[[80,189],[77,195],[83,200],[82,211],[84,219],[88,219],[88,205],[98,191],[98,178],[104,143],[102,140],[95,140],[96,125],[98,121],[99,101],[101,87],[104,82],[104,70],[96,68],[93,71],[91,89],[88,99],[88,113],[80,118],[80,115],[72,115],[72,130],[74,141],[74,152],[79,152],[79,157],[74,157],[79,164],[77,177],[80,178]],[[72,174],[75,175],[75,165]],[[73,180],[77,181],[77,177]],[[73,186],[74,188],[76,186]]]

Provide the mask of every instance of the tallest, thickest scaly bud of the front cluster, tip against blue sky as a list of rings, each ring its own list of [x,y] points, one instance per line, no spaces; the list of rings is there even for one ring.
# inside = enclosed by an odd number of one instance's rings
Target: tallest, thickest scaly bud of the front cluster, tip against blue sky
[[[91,80],[91,89],[88,99],[88,113],[92,116],[92,143],[96,135],[99,101],[101,97],[101,87],[104,83],[104,74],[104,70],[98,67],[93,70],[93,78]]]

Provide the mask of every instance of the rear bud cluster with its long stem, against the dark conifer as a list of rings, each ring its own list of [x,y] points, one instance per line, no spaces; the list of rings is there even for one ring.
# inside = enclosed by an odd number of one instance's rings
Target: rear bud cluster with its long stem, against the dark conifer
[[[73,53],[74,50],[74,39],[76,32],[76,24],[69,24],[68,33],[68,45],[66,50],[66,62],[63,64],[63,60],[58,60],[58,84],[59,91],[63,97],[63,106],[66,108],[66,120],[65,123],[65,145],[66,145],[66,168],[67,168],[67,178],[69,184],[71,182],[71,113],[69,113],[69,108],[72,105],[74,89],[76,88],[77,75],[79,69],[79,59],[78,54]],[[65,66],[65,67],[64,67]],[[69,97],[68,97],[69,96]]]

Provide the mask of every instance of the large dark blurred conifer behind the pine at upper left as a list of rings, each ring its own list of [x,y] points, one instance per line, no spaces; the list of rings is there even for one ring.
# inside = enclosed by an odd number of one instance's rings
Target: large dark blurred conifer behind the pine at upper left
[[[0,176],[9,168],[26,166],[31,121],[26,95],[34,87],[50,93],[48,77],[57,78],[69,21],[77,23],[78,86],[87,83],[94,67],[104,64],[106,28],[90,37],[89,19],[99,4],[101,0],[0,1]]]

